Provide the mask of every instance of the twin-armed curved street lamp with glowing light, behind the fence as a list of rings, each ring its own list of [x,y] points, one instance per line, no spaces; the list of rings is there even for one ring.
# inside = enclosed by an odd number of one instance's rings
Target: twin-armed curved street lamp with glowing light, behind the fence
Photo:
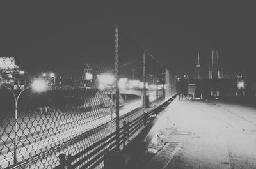
[[[32,88],[33,91],[36,91],[36,92],[46,91],[47,85],[46,85],[46,82],[44,80],[35,80],[31,85],[29,85],[28,87],[26,87],[25,89],[20,91],[17,97],[16,97],[15,93],[12,91],[12,89],[10,89],[10,87],[8,87],[6,85],[3,85],[3,84],[0,84],[0,86],[3,86],[6,89],[8,89],[8,91],[11,91],[12,94],[13,94],[14,101],[15,101],[15,113],[14,113],[15,127],[14,127],[14,155],[13,155],[14,158],[13,158],[13,163],[16,164],[17,163],[18,101],[19,101],[20,95],[22,94],[22,92],[26,91],[26,89],[29,89],[29,88]]]

